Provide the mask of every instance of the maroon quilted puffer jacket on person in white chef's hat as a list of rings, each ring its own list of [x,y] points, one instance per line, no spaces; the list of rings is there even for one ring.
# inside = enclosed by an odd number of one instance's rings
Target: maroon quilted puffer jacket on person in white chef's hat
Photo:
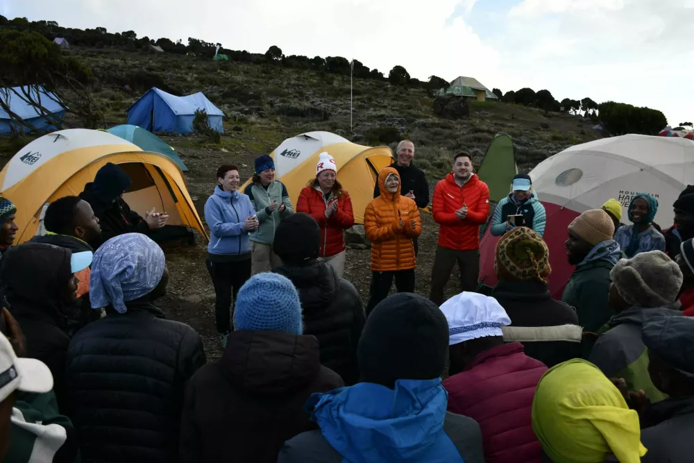
[[[448,411],[480,423],[486,463],[540,463],[532,430],[532,400],[547,367],[512,342],[475,357],[464,371],[443,381]]]

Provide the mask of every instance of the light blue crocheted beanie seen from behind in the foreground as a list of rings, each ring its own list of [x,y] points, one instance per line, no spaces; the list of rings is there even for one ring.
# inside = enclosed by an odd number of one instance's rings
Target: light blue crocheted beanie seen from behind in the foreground
[[[294,283],[278,273],[263,272],[252,276],[236,296],[234,328],[301,335],[301,303]]]

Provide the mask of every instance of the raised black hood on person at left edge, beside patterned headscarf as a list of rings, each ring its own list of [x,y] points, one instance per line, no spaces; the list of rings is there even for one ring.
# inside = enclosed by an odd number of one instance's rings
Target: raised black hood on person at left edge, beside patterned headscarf
[[[72,276],[71,251],[28,242],[15,246],[2,258],[0,282],[13,313],[49,314],[62,319],[63,300]]]

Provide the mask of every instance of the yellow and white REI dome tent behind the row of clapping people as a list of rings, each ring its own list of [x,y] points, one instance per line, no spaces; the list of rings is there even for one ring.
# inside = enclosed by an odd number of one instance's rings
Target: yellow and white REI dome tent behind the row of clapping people
[[[295,207],[301,189],[316,178],[318,157],[323,151],[335,158],[337,180],[350,195],[355,223],[364,224],[364,210],[373,199],[378,171],[393,162],[393,152],[388,146],[362,146],[330,132],[308,132],[287,138],[270,156],[275,161],[275,178],[285,184]],[[241,191],[249,183],[251,179]]]

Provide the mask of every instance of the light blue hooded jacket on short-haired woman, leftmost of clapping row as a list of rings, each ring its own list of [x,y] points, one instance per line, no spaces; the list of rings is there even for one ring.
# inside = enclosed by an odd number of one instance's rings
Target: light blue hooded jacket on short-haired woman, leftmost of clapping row
[[[251,199],[238,191],[225,192],[219,185],[205,203],[205,221],[210,227],[208,253],[241,255],[251,252],[244,221],[255,214]]]

